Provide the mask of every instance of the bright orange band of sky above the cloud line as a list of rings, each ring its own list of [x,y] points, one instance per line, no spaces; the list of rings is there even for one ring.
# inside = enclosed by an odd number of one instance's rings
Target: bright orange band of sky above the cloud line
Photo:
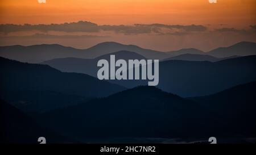
[[[255,24],[255,0],[1,0],[0,23]]]

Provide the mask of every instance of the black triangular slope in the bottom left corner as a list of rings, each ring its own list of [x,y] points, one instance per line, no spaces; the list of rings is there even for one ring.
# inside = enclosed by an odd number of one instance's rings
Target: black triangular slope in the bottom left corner
[[[75,143],[45,127],[39,126],[35,120],[0,100],[1,143],[37,143],[38,138],[46,137],[46,143]]]

